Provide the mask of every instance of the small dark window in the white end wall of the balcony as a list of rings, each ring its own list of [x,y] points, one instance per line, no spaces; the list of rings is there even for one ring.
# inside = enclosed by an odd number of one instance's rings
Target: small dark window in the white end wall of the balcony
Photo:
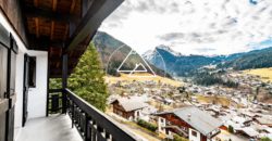
[[[32,88],[36,87],[36,56],[29,56],[29,79],[28,85]]]

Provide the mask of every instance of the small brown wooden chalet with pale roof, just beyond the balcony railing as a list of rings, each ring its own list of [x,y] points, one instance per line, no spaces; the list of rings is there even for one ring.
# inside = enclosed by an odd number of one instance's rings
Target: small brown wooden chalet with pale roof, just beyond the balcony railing
[[[111,104],[113,105],[114,114],[128,120],[137,120],[143,115],[143,110],[148,106],[148,104],[141,101],[126,98],[116,99]]]

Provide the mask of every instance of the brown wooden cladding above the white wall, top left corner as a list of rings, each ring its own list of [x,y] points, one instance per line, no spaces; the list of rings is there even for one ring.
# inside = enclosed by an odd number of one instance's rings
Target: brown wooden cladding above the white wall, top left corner
[[[0,0],[1,11],[8,16],[8,21],[16,30],[24,43],[26,43],[26,35],[24,29],[24,22],[20,9],[20,0]]]

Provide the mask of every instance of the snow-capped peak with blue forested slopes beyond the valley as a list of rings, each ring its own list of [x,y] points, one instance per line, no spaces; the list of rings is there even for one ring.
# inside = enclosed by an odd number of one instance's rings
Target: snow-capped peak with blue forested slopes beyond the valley
[[[154,50],[149,50],[143,57],[160,69],[173,76],[184,76],[201,66],[221,62],[220,59],[202,55],[182,55],[168,46],[160,44]]]

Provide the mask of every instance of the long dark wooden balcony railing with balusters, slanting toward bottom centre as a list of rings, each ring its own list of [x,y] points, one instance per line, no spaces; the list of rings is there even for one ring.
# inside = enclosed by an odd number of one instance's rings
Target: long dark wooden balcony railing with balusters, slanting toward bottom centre
[[[135,141],[139,140],[121,127],[104,113],[65,89],[67,113],[85,141]]]

